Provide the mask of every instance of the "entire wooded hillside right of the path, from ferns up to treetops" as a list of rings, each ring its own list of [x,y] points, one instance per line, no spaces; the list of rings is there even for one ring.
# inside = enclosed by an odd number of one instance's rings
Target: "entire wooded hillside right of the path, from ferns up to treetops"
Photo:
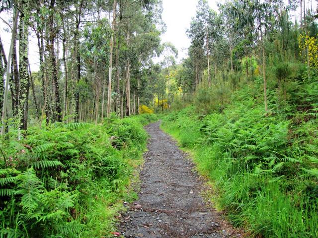
[[[228,0],[217,13],[199,0],[183,96],[162,122],[252,237],[318,237],[318,28],[305,4]]]

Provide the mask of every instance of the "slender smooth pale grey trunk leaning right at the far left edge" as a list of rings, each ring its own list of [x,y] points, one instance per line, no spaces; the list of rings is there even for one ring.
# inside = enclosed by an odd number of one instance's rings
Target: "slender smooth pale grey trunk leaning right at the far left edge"
[[[12,33],[11,33],[11,44],[9,49],[9,55],[6,65],[6,79],[5,79],[5,86],[4,86],[4,93],[3,93],[3,107],[2,107],[2,118],[1,118],[1,135],[4,135],[5,133],[5,116],[6,116],[6,109],[7,109],[7,100],[8,100],[8,89],[9,89],[9,79],[10,79],[10,68],[11,68],[11,57],[12,57],[12,51],[13,51],[13,45],[15,40],[15,34],[16,34],[16,26],[18,23],[18,17],[19,17],[19,10],[16,10],[13,26],[12,26]]]

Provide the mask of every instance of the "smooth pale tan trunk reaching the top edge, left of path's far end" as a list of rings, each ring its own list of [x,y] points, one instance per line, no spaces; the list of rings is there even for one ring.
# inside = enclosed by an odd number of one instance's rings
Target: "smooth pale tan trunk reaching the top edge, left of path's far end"
[[[111,80],[112,80],[112,64],[113,64],[113,44],[114,44],[114,35],[115,35],[115,24],[116,24],[116,6],[117,1],[114,0],[113,4],[113,21],[111,24],[112,34],[110,37],[110,52],[109,52],[109,72],[108,72],[108,95],[107,95],[107,117],[110,117],[110,108],[111,108]]]

